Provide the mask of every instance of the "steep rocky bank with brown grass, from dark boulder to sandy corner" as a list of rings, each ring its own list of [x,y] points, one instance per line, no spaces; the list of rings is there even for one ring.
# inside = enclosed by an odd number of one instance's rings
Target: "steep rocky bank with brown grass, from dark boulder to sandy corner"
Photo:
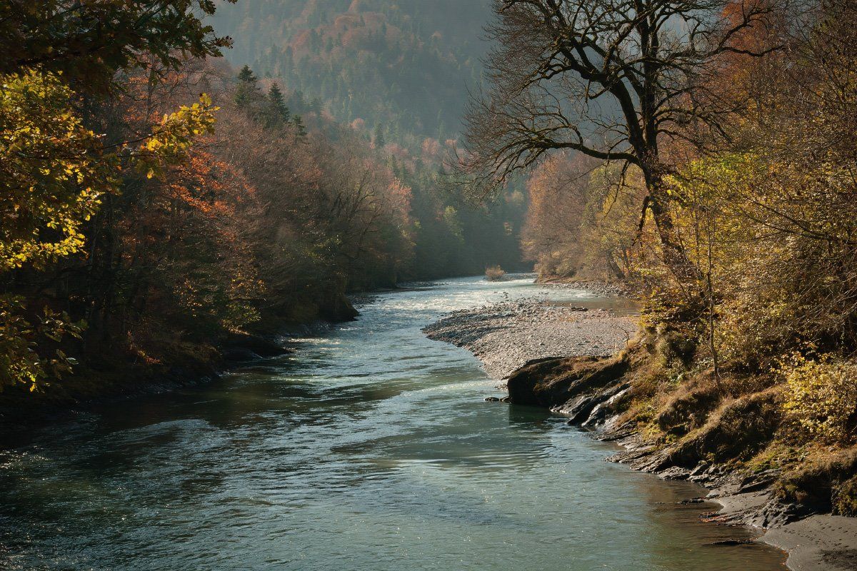
[[[789,568],[853,570],[857,519],[818,513],[830,508],[812,497],[805,497],[803,503],[784,499],[782,489],[788,486],[788,478],[747,460],[764,449],[776,430],[771,415],[776,389],[734,399],[718,411],[719,418],[706,422],[686,439],[665,442],[647,434],[637,419],[627,416],[647,359],[648,354],[631,344],[620,354],[603,359],[536,360],[508,378],[510,401],[549,407],[568,415],[570,424],[589,428],[596,437],[625,448],[610,461],[663,479],[704,485],[710,490],[707,498],[722,504],[718,514],[710,515],[711,521],[764,530],[761,540],[788,551]],[[855,465],[857,461],[852,460],[849,467],[816,467],[815,473],[813,467],[807,467],[800,473],[804,481],[795,487],[830,497],[831,487],[836,485],[834,470],[848,474]]]

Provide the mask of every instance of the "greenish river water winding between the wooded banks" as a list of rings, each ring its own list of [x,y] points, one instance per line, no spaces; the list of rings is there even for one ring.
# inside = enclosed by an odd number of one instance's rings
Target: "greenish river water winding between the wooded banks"
[[[680,506],[701,489],[502,396],[442,313],[543,295],[451,280],[212,384],[104,406],[0,453],[3,569],[768,571],[763,545]]]

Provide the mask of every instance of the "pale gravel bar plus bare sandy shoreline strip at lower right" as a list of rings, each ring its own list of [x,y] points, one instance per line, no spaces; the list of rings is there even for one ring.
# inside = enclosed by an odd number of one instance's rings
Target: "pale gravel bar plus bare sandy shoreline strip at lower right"
[[[581,288],[581,285],[560,283],[557,287]],[[636,330],[633,317],[619,317],[599,309],[551,305],[535,298],[453,312],[423,329],[431,339],[469,349],[482,361],[486,372],[498,379],[509,377],[531,360],[614,354]],[[614,461],[657,473],[653,467],[657,463],[655,455],[649,447],[641,445],[639,437],[627,433],[623,437],[605,436],[626,447],[626,452],[617,455]],[[777,504],[764,485],[742,482],[729,473],[695,472],[672,469],[657,475],[692,479],[708,486],[709,499],[722,505],[722,511],[712,520],[758,528],[760,541],[788,552],[788,568],[857,570],[857,518],[811,515],[794,520],[794,515],[788,514],[789,506],[771,509]]]

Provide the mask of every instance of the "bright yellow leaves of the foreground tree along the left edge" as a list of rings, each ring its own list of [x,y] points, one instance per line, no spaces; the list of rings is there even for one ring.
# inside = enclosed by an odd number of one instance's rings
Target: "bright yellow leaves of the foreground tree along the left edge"
[[[203,96],[149,125],[135,143],[105,146],[75,114],[74,92],[58,75],[31,71],[3,80],[0,279],[5,285],[14,283],[22,268],[42,271],[84,250],[87,226],[118,192],[123,165],[151,178],[179,162],[192,140],[213,124],[211,101]],[[78,335],[81,330],[82,323],[70,324],[61,313],[44,310],[34,319],[26,309],[20,295],[0,295],[6,337],[0,362],[9,361],[0,372],[0,389],[17,383],[32,389],[50,372],[67,370],[64,357],[39,357],[39,346],[58,343],[64,331]]]

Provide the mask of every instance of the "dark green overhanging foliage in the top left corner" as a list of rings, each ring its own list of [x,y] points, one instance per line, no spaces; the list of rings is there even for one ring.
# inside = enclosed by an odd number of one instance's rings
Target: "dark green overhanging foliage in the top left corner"
[[[213,0],[6,0],[0,74],[40,68],[81,89],[109,91],[120,69],[155,61],[176,70],[188,57],[219,56],[231,40],[202,21],[216,9]]]

